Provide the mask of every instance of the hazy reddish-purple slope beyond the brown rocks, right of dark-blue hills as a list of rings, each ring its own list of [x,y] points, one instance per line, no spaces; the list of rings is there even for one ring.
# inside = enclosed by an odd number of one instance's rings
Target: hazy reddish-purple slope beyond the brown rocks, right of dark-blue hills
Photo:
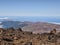
[[[60,25],[58,24],[52,24],[47,22],[35,22],[33,24],[24,26],[22,30],[31,31],[33,33],[43,33],[43,32],[49,32],[54,28],[56,28],[57,31],[60,31]]]

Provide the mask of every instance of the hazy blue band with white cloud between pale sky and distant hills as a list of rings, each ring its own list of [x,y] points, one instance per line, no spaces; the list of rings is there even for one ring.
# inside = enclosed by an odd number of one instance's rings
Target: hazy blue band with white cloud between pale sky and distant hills
[[[50,22],[50,23],[60,23],[60,17],[39,17],[39,16],[0,16],[1,20],[10,21],[29,21],[29,22]]]

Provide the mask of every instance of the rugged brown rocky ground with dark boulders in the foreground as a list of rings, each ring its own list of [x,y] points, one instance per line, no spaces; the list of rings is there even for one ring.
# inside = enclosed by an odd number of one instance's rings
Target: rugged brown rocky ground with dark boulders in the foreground
[[[60,32],[56,29],[49,33],[33,33],[21,28],[0,28],[0,45],[60,45]]]

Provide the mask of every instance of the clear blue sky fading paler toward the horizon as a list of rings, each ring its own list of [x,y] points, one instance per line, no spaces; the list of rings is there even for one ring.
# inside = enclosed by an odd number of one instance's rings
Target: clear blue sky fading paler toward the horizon
[[[0,16],[60,16],[60,1],[0,0]]]

